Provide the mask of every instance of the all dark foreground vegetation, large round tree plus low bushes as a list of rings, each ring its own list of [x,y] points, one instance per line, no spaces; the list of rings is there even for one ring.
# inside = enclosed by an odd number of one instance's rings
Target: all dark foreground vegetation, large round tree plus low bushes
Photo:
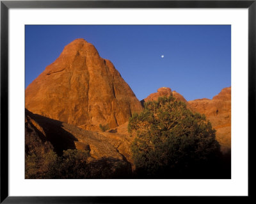
[[[192,113],[172,96],[144,106],[128,125],[135,137],[133,172],[127,170],[131,166],[111,158],[93,162],[90,151],[68,149],[57,154],[50,143],[32,141],[34,146],[26,146],[25,178],[231,178],[231,152],[220,152],[205,116]]]

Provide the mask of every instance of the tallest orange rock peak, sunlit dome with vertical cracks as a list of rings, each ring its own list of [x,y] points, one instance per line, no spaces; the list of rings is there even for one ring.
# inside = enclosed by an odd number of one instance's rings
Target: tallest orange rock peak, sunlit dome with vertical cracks
[[[26,108],[87,130],[114,128],[143,109],[111,61],[84,39],[69,43],[29,84]]]

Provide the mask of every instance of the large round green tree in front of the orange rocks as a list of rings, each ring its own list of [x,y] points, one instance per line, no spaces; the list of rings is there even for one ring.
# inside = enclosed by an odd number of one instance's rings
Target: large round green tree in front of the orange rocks
[[[220,145],[205,116],[192,113],[172,96],[144,105],[128,125],[129,132],[136,134],[131,151],[137,175],[192,178],[211,174]]]

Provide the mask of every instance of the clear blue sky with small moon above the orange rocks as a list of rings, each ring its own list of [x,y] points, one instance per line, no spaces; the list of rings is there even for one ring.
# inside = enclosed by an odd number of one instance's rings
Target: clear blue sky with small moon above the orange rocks
[[[84,38],[139,100],[170,87],[186,100],[231,86],[231,26],[26,26],[26,87],[68,43]],[[161,58],[161,56],[164,56]]]

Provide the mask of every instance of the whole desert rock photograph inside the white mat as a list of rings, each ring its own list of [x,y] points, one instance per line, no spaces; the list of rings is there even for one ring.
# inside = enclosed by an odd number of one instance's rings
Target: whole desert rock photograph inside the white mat
[[[231,25],[24,35],[25,179],[231,179]]]

